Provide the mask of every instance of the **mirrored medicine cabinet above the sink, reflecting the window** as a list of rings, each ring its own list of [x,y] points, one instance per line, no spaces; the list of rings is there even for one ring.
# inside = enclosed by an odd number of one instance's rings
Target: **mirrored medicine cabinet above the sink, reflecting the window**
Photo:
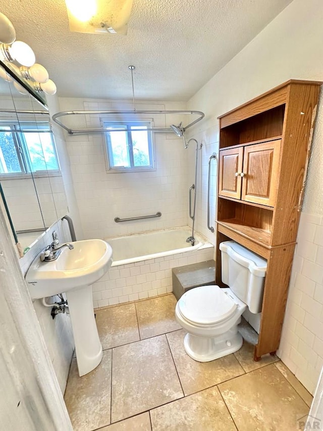
[[[0,61],[1,66],[6,65]],[[0,78],[0,191],[25,253],[67,213],[67,200],[47,107],[28,83],[5,69],[14,81]]]

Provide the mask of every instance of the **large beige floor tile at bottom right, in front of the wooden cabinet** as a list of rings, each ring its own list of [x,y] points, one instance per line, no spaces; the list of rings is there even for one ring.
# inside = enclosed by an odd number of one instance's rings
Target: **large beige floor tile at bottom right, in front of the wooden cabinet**
[[[239,431],[298,429],[297,416],[308,406],[274,364],[219,385]]]

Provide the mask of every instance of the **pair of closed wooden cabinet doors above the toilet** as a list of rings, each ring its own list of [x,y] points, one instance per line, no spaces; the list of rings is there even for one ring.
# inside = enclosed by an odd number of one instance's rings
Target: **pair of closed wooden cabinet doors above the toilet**
[[[281,139],[220,150],[219,195],[274,206]]]

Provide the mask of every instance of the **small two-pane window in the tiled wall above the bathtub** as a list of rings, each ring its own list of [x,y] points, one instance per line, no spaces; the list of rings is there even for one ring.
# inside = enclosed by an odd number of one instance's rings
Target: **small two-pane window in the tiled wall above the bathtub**
[[[104,122],[106,152],[111,172],[153,170],[149,122]]]

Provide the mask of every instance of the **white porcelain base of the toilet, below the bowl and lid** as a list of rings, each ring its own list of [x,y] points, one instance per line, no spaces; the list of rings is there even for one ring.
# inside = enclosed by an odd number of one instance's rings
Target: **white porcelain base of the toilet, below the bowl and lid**
[[[190,333],[184,337],[186,353],[198,362],[209,362],[230,355],[239,350],[242,343],[243,339],[237,325],[218,337],[197,337]]]

